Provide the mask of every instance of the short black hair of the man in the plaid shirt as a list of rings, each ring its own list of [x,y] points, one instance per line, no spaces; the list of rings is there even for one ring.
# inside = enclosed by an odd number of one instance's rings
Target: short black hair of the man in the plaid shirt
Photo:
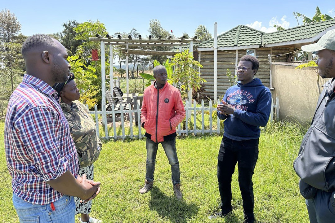
[[[46,48],[55,47],[55,42],[51,36],[46,34],[35,34],[29,36],[22,44],[22,55],[25,58],[27,52],[36,47],[46,46]]]

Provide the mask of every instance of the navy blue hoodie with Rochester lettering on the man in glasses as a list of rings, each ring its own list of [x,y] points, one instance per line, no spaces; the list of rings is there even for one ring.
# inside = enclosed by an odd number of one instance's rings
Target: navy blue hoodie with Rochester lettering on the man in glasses
[[[246,85],[231,86],[223,101],[235,107],[232,115],[217,112],[219,119],[225,119],[223,135],[238,141],[259,138],[259,126],[268,123],[271,112],[271,92],[262,81],[255,78]]]

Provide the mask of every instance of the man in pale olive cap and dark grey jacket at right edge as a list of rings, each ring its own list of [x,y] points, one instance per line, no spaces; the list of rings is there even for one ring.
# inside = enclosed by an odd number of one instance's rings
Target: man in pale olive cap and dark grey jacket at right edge
[[[331,78],[319,97],[316,111],[294,161],[301,179],[300,194],[306,199],[311,223],[335,222],[335,29],[317,43],[302,46],[318,55],[322,78]]]

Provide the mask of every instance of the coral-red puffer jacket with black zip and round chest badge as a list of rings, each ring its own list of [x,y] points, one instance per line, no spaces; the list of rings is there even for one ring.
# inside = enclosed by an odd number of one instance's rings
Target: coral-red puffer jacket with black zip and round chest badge
[[[156,89],[154,85],[144,90],[141,124],[146,131],[146,137],[154,142],[162,142],[176,136],[176,127],[186,113],[177,88],[169,83],[162,89]]]

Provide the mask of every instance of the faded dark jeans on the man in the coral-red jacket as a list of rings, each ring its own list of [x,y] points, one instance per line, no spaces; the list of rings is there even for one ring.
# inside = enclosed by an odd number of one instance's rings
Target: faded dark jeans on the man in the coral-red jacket
[[[154,142],[151,139],[146,139],[146,150],[147,150],[147,160],[146,160],[146,175],[145,179],[149,182],[153,181],[153,173],[155,172],[156,154],[158,149],[158,144],[163,146],[167,159],[171,165],[172,172],[172,183],[180,184],[180,172],[179,172],[179,161],[176,149],[176,138],[163,142]]]

